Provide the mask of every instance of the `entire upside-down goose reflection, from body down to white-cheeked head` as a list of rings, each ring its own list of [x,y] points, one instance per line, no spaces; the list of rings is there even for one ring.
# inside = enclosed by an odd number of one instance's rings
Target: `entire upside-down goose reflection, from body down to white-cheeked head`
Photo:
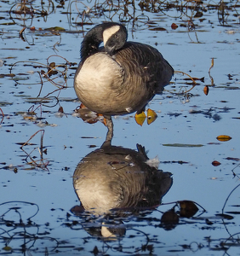
[[[157,170],[156,160],[149,160],[141,145],[137,148],[111,146],[106,141],[77,165],[73,185],[81,206],[72,207],[71,212],[82,218],[91,235],[108,239],[125,235],[123,220],[150,214],[171,188],[172,174]],[[101,225],[92,215],[102,218]],[[111,224],[108,231],[107,222]]]

